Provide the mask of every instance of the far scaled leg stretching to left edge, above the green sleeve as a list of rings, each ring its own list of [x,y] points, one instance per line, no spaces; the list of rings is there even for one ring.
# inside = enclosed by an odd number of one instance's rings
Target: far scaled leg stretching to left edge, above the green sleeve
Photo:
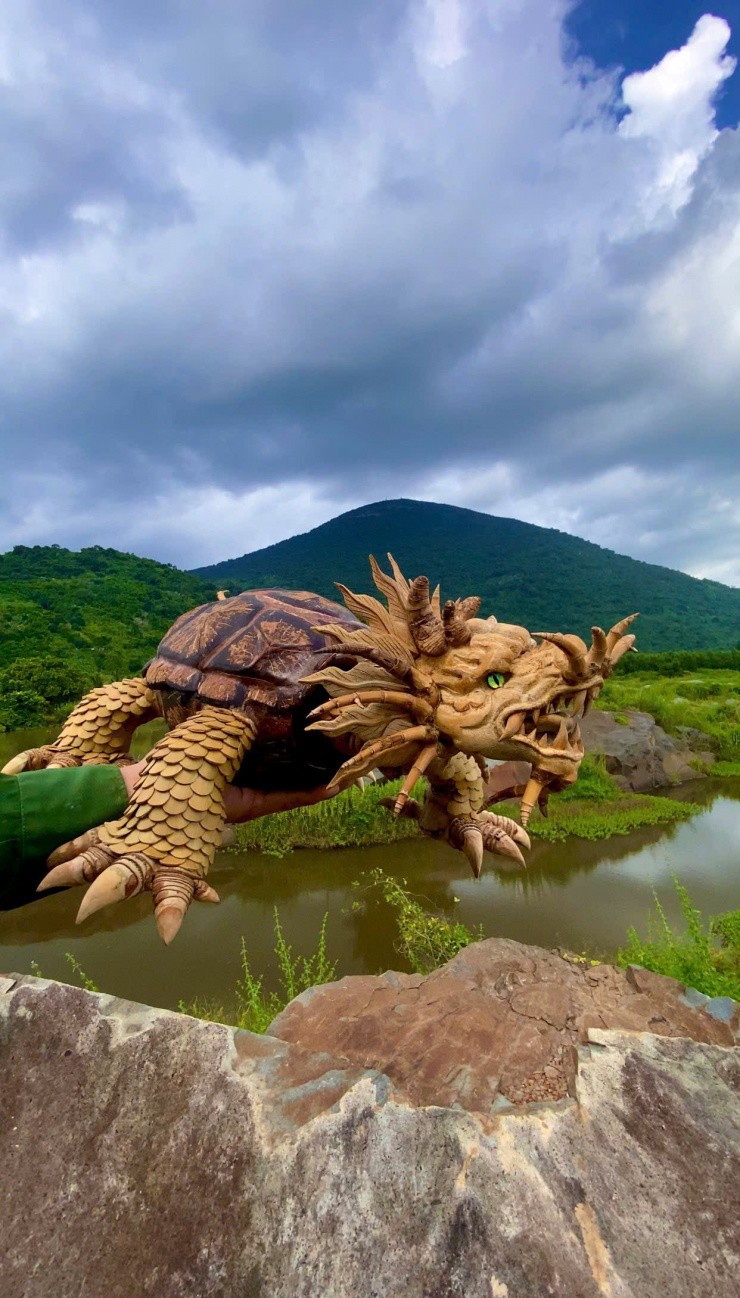
[[[3,767],[3,775],[52,766],[108,762],[125,766],[132,761],[129,745],[134,731],[158,715],[154,694],[143,676],[100,685],[70,713],[53,744],[18,753]]]

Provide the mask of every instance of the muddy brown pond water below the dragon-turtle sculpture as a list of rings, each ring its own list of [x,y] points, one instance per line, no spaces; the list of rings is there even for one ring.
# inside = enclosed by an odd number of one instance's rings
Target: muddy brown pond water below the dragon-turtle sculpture
[[[0,736],[0,762],[48,737],[48,731]],[[353,906],[374,867],[405,877],[415,896],[447,918],[471,928],[482,924],[486,936],[608,954],[631,924],[645,929],[653,889],[680,923],[674,875],[708,914],[740,906],[740,780],[697,780],[672,796],[700,802],[701,814],[602,842],[535,842],[526,874],[492,868],[487,858],[480,880],[470,876],[460,853],[425,839],[283,858],[222,851],[209,876],[221,905],[191,907],[169,949],[156,933],[149,898],[104,910],[78,928],[80,890],[70,889],[0,912],[0,971],[29,972],[36,962],[47,977],[69,981],[65,953],[71,951],[114,996],[173,1009],[196,996],[228,1005],[241,937],[253,970],[266,985],[277,985],[274,906],[296,953],[313,950],[328,912],[328,954],[338,976],[397,968],[388,907],[374,893],[361,909]],[[352,887],[356,880],[360,888]]]

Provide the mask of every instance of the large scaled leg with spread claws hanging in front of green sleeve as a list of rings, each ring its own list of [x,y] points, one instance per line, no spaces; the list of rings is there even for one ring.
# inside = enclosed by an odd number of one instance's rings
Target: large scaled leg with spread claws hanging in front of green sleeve
[[[149,753],[119,820],[49,857],[39,885],[90,883],[78,923],[110,902],[151,892],[160,936],[171,942],[196,901],[218,901],[205,883],[223,829],[223,790],[256,735],[244,713],[203,707]]]

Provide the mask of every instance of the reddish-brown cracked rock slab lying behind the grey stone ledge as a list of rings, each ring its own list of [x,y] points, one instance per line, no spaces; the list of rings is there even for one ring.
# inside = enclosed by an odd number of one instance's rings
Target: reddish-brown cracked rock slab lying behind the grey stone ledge
[[[687,1005],[672,979],[574,963],[508,938],[475,942],[410,984],[383,974],[314,988],[270,1033],[378,1068],[414,1103],[492,1112],[500,1097],[550,1098],[537,1077],[591,1027],[734,1044],[730,1025]],[[563,1094],[574,1067],[563,1066]]]

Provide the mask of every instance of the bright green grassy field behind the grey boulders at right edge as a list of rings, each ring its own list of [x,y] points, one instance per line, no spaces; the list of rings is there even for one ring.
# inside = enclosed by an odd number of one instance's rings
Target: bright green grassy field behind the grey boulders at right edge
[[[682,726],[704,731],[706,746],[718,758],[740,762],[739,670],[705,668],[674,676],[617,672],[606,681],[597,706],[619,713],[630,707],[650,713],[669,735],[675,735]]]

